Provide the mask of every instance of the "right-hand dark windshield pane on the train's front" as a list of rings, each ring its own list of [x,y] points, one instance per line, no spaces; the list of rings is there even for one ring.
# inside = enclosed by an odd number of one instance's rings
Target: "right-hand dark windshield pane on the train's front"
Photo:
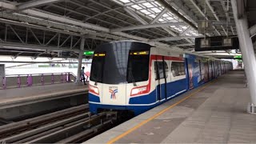
[[[150,52],[130,51],[127,69],[127,82],[142,82],[149,78]]]

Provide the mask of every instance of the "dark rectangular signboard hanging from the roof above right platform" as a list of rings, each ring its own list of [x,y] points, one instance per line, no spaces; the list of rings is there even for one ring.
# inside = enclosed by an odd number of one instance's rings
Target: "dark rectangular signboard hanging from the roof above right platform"
[[[195,38],[194,50],[238,50],[238,37],[226,38],[226,36]]]

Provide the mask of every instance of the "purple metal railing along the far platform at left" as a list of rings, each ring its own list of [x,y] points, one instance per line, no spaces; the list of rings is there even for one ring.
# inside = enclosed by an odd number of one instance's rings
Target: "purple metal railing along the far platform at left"
[[[21,88],[26,86],[43,86],[55,83],[74,82],[76,76],[72,72],[44,74],[8,74],[2,78],[2,89]]]

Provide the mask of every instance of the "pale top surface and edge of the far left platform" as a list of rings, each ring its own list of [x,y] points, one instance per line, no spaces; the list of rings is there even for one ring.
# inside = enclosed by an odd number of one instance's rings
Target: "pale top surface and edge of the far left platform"
[[[88,86],[62,83],[0,90],[0,109],[86,94]]]

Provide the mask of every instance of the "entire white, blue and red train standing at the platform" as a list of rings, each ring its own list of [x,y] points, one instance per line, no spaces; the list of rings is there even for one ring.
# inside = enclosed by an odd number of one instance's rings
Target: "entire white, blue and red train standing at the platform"
[[[216,78],[218,60],[174,53],[143,42],[110,42],[94,51],[90,111],[141,114]]]

